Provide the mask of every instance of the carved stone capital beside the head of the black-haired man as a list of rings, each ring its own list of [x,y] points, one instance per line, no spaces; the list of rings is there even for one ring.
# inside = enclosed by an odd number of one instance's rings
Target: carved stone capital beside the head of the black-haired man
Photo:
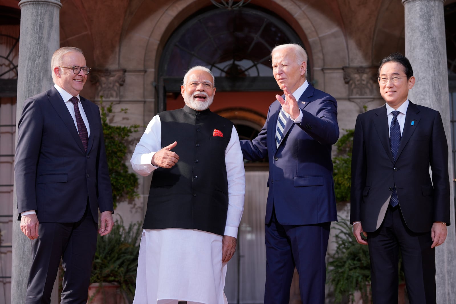
[[[360,112],[364,105],[378,98],[378,67],[342,67],[343,79],[348,84],[348,100],[357,103]]]

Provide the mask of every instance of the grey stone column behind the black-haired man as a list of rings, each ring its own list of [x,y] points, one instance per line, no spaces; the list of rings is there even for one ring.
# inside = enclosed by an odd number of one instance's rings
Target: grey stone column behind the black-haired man
[[[440,112],[448,142],[451,226],[445,243],[435,250],[436,283],[437,303],[456,303],[456,222],[443,3],[444,0],[402,0],[405,8],[405,56],[409,58],[416,77],[409,98]]]

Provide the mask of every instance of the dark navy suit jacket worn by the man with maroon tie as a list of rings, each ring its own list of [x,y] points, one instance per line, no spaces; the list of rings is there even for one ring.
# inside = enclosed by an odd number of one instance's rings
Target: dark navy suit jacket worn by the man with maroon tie
[[[114,210],[100,112],[85,98],[81,103],[90,126],[87,152],[56,88],[24,102],[15,159],[19,219],[35,209],[40,222],[78,222],[87,201],[95,222],[98,209]]]

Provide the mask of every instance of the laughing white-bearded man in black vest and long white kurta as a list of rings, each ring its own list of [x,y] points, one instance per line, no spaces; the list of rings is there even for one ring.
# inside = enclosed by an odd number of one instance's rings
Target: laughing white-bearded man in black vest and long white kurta
[[[155,115],[130,160],[140,175],[152,173],[134,304],[228,303],[245,172],[233,123],[209,110],[215,90],[212,72],[192,67],[184,108]]]

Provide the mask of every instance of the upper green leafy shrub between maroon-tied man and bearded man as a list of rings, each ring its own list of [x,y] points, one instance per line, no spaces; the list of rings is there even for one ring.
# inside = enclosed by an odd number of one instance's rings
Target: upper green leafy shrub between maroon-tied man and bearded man
[[[138,188],[138,176],[129,172],[125,165],[125,155],[127,154],[130,141],[130,134],[137,132],[139,125],[118,126],[110,124],[109,114],[113,113],[113,103],[108,107],[103,105],[103,96],[100,96],[101,122],[103,126],[104,145],[106,147],[106,158],[108,160],[109,176],[113,189],[114,209],[117,202],[123,198],[133,199],[139,196],[136,191]],[[127,113],[127,108],[120,111]]]

